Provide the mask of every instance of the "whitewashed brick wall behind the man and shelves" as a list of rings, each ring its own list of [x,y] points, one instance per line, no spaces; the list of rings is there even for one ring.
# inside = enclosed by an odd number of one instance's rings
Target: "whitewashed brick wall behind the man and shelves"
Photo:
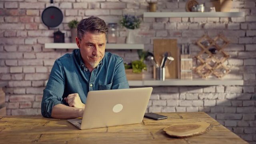
[[[53,32],[40,20],[50,0],[0,0],[0,80],[4,88],[8,115],[40,114],[42,90],[54,60],[72,50],[45,49],[53,42]],[[118,22],[122,14],[142,15],[146,0],[54,0],[64,14],[59,26],[70,42],[70,20],[99,16]],[[198,0],[212,6],[210,0]],[[158,11],[184,11],[186,1],[159,0]],[[231,44],[226,64],[231,73],[226,78],[244,80],[244,86],[155,86],[148,112],[204,111],[251,144],[256,143],[256,2],[234,0],[233,11],[245,12],[242,18],[144,18],[136,30],[136,42],[153,50],[154,38],[176,38],[181,44],[192,44],[196,55],[200,48],[194,43],[203,34],[212,37],[224,34]],[[124,43],[127,32],[118,29],[118,43]],[[135,50],[110,50],[126,62],[138,58]],[[152,67],[149,66],[149,70]],[[149,73],[150,76],[152,74]],[[194,74],[194,78],[198,77]]]

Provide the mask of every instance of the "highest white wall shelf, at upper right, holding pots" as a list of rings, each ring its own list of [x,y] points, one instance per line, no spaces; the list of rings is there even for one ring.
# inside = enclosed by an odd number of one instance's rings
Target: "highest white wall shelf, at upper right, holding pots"
[[[144,12],[144,18],[244,17],[244,12]]]

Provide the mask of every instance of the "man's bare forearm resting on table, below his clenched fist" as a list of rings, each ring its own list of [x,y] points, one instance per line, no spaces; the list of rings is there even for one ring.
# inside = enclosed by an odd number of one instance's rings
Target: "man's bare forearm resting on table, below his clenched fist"
[[[52,118],[72,119],[82,117],[84,109],[57,104],[52,108]]]

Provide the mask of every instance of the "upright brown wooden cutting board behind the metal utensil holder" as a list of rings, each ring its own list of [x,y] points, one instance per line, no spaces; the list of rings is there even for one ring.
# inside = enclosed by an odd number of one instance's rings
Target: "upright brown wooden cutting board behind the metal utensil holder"
[[[166,66],[165,78],[178,78],[178,48],[177,39],[154,39],[154,58],[158,65],[161,65],[163,54],[165,52],[171,52],[171,56],[174,58],[171,64]],[[154,78],[155,78],[154,70]]]

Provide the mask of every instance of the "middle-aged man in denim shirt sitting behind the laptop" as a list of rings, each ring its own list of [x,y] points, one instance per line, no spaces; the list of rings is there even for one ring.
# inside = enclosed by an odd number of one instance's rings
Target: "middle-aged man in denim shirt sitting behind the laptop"
[[[129,88],[123,59],[105,53],[108,28],[91,16],[77,26],[79,49],[58,58],[52,67],[41,104],[48,118],[82,117],[86,96],[92,90]]]

